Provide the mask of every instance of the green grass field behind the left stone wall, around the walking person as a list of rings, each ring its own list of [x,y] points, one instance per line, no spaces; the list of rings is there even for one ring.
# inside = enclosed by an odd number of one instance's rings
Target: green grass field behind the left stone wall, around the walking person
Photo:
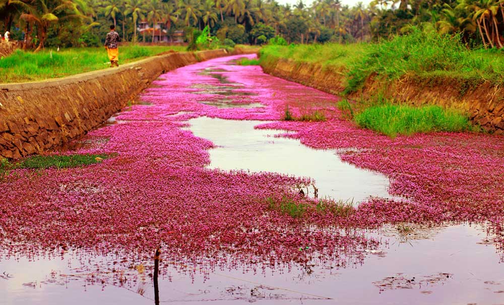
[[[183,51],[184,47],[138,45],[119,47],[119,64],[169,50]],[[46,49],[38,53],[17,50],[0,59],[0,83],[63,77],[104,69],[109,65],[105,48],[73,48],[60,52]]]

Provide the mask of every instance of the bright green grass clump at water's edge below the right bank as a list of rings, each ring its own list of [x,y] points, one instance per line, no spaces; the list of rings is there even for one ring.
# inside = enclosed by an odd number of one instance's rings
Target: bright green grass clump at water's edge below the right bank
[[[462,132],[472,130],[469,119],[455,111],[438,106],[411,107],[406,105],[377,105],[355,115],[362,128],[381,132],[390,137],[435,131]]]

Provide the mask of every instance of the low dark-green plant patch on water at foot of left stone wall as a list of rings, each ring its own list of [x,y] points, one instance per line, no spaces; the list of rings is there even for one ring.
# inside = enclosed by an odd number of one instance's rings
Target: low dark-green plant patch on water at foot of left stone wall
[[[17,168],[70,168],[90,165],[101,162],[103,159],[114,157],[115,154],[75,154],[75,155],[47,155],[31,156],[12,163],[0,157],[0,181],[3,181],[9,173]]]

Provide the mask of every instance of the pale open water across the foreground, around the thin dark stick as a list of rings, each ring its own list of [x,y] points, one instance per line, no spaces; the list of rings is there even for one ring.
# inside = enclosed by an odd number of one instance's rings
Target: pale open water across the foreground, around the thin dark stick
[[[330,263],[302,268],[254,271],[219,269],[206,276],[162,263],[161,303],[232,304],[467,304],[504,301],[504,265],[481,229],[457,225],[397,236],[366,253],[364,265],[338,268]],[[394,236],[395,235],[395,236]],[[421,236],[420,239],[409,239]],[[117,267],[113,257],[65,253],[54,259],[26,258],[0,263],[2,304],[152,304],[152,262]],[[145,266],[139,268],[142,264]],[[89,266],[92,266],[91,268]],[[100,266],[101,270],[96,270]],[[199,267],[187,267],[198,269]],[[91,270],[90,270],[91,269]],[[109,273],[107,273],[109,272]],[[118,273],[125,278],[117,280]]]

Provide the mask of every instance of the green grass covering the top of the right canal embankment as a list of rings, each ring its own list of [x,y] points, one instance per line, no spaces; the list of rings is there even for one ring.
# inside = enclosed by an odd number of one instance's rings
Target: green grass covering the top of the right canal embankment
[[[496,49],[469,50],[458,36],[412,33],[376,44],[265,46],[261,61],[285,58],[317,63],[341,71],[346,92],[358,90],[369,75],[393,80],[405,74],[419,78],[456,78],[472,84],[504,81],[504,54]]]

